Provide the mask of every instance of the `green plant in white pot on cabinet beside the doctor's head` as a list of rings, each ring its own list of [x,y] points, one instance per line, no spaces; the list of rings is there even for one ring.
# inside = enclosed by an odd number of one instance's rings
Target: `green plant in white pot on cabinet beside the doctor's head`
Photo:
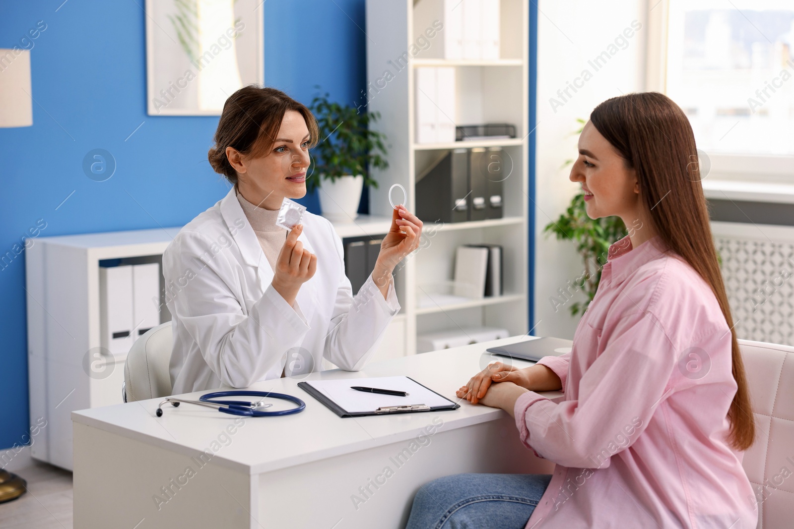
[[[310,109],[318,121],[320,141],[312,150],[318,178],[307,178],[306,190],[319,188],[323,217],[353,220],[364,185],[378,186],[369,171],[388,167],[386,135],[369,129],[380,113],[330,102],[328,94],[314,98]]]

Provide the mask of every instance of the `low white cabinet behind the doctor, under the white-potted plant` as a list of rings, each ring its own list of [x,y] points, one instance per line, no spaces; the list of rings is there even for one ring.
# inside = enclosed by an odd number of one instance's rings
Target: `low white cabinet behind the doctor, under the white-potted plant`
[[[334,224],[343,239],[383,234],[390,226],[391,217],[368,215]],[[86,366],[87,358],[94,359],[89,351],[101,347],[100,261],[161,263],[179,229],[38,237],[25,251],[30,416],[47,420],[31,445],[33,458],[71,470],[71,412],[121,403],[126,355],[105,357],[98,374]],[[171,320],[163,281],[161,277],[160,323]],[[375,360],[403,356],[405,327],[405,315],[397,314]]]

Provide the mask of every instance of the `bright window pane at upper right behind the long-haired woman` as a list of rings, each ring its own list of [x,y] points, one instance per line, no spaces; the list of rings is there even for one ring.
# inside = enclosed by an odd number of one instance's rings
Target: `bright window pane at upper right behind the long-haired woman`
[[[665,90],[698,147],[794,156],[794,2],[669,0]]]

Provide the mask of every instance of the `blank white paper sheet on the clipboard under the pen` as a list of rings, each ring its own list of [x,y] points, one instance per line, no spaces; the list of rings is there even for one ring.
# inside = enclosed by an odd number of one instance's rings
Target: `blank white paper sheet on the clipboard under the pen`
[[[306,381],[306,383],[349,413],[374,412],[382,406],[397,406],[401,404],[426,404],[430,408],[453,404],[449,399],[437,395],[437,393],[407,377],[345,378],[344,380],[312,380]],[[408,396],[397,397],[395,395],[367,393],[350,389],[352,385],[407,391]]]

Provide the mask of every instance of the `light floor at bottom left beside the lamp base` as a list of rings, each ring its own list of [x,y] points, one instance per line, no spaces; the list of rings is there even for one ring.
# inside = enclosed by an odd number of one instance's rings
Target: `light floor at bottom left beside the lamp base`
[[[71,529],[71,472],[33,462],[13,473],[28,482],[28,492],[0,504],[2,529]]]

